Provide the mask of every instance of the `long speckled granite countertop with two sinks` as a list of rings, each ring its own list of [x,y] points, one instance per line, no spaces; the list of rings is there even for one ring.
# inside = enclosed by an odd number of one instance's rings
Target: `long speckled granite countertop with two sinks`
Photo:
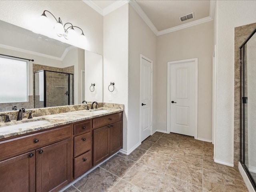
[[[104,110],[100,112],[100,110]],[[21,134],[26,134],[30,132],[35,132],[38,130],[45,130],[48,128],[53,128],[56,126],[66,125],[82,120],[88,120],[91,118],[96,118],[100,116],[105,116],[113,113],[122,112],[123,109],[120,108],[108,108],[101,107],[94,110],[79,110],[73,112],[52,114],[40,117],[34,117],[33,119],[23,119],[21,121],[11,121],[8,123],[1,122],[0,123],[0,139],[8,138],[12,136],[17,136]],[[27,122],[36,122],[44,120],[44,124],[41,125],[32,125],[27,126]],[[23,125],[22,125],[23,124]],[[15,126],[12,126],[15,125]],[[16,126],[20,125],[20,126]]]

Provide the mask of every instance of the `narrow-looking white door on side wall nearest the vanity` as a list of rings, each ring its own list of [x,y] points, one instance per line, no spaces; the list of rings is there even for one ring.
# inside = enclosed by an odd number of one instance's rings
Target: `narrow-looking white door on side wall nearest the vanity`
[[[141,57],[140,61],[140,133],[141,141],[152,132],[152,61]]]

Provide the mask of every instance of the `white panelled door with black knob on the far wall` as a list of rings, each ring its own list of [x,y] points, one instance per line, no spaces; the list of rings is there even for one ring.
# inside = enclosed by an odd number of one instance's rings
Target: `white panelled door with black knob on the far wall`
[[[197,137],[197,60],[170,64],[170,132]],[[195,132],[196,130],[196,132]]]

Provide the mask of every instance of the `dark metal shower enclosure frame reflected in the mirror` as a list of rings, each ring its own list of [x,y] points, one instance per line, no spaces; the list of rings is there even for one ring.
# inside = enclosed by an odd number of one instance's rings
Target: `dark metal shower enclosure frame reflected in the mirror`
[[[37,71],[37,72],[34,72],[35,73],[38,73],[38,72],[44,72],[44,107],[47,107],[46,106],[46,100],[47,100],[47,97],[46,97],[46,72],[54,72],[54,73],[61,73],[61,74],[67,74],[68,75],[68,105],[70,105],[70,75],[72,75],[72,87],[73,87],[73,90],[72,90],[72,103],[74,104],[74,74],[72,73],[66,73],[66,72],[58,72],[58,71],[50,71],[50,70],[40,70],[40,71]],[[34,100],[35,100],[35,76],[34,76]],[[34,102],[34,107],[35,107],[35,102]]]

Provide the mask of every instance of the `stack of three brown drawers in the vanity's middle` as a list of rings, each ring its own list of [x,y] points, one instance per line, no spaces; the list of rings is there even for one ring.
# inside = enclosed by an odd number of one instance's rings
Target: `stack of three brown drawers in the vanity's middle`
[[[74,179],[92,168],[92,120],[74,124]]]

